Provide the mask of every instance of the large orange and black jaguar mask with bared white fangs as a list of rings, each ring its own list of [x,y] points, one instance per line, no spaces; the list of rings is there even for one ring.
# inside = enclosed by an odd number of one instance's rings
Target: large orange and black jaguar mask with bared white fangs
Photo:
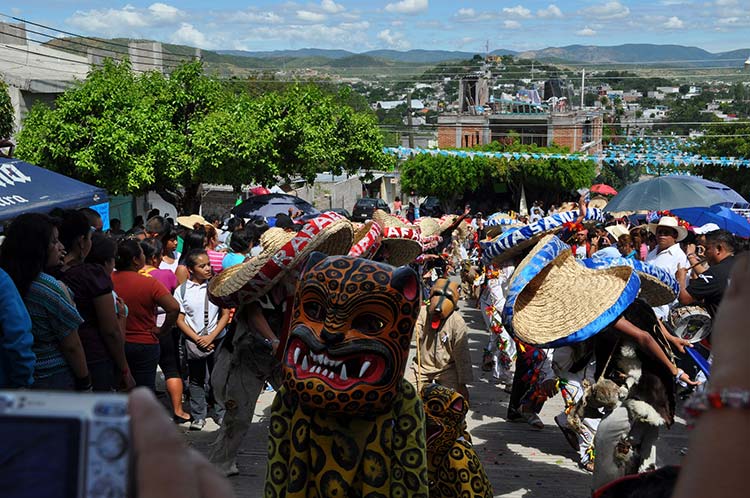
[[[339,414],[391,407],[419,313],[417,274],[313,253],[297,288],[284,383],[303,406]]]

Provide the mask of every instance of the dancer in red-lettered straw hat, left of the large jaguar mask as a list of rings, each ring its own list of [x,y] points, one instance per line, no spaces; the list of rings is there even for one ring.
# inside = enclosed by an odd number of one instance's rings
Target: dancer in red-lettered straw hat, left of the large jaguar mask
[[[261,254],[212,280],[211,300],[237,308],[212,375],[215,396],[226,413],[209,459],[225,475],[239,473],[237,451],[264,384],[274,389],[281,386],[279,357],[288,331],[297,268],[314,250],[346,254],[352,238],[351,223],[335,213],[308,221],[299,232],[272,228],[261,237]]]

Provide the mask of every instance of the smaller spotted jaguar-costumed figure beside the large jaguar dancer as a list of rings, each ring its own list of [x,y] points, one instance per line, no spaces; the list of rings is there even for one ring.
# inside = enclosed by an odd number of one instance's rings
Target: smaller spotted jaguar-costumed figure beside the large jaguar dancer
[[[440,384],[422,388],[430,498],[492,498],[492,485],[466,432],[468,405]]]

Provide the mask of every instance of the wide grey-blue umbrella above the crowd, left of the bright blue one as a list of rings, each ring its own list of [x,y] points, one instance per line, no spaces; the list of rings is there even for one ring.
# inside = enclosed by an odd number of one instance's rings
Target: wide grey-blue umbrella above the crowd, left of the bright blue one
[[[605,211],[673,211],[679,208],[711,207],[742,196],[726,185],[693,176],[660,176],[628,185]],[[744,199],[742,199],[744,201]],[[745,201],[747,202],[747,201]]]

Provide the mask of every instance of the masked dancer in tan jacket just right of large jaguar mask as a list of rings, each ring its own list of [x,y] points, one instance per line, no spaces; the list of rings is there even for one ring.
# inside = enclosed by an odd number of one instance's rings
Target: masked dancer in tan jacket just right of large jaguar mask
[[[430,301],[419,312],[414,326],[417,356],[413,364],[417,386],[436,382],[459,392],[469,401],[471,355],[468,327],[458,305],[458,284],[438,279],[430,290]]]

